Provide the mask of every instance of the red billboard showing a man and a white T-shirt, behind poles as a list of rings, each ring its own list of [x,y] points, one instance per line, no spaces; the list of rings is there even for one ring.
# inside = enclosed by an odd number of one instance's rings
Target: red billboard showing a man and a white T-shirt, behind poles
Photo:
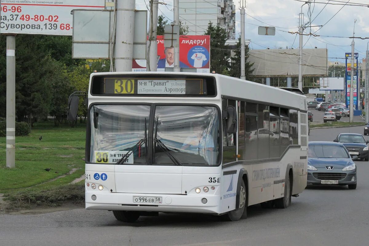
[[[164,37],[157,36],[158,71],[174,67],[174,48],[164,47]],[[179,65],[181,68],[196,68],[198,73],[210,73],[210,36],[181,35],[179,37]],[[146,60],[133,60],[133,72],[145,72]]]

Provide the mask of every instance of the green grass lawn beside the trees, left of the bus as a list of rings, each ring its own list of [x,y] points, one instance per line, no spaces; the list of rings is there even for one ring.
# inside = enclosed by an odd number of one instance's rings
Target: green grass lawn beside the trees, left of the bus
[[[0,193],[7,203],[17,208],[84,201],[83,182],[69,183],[85,173],[85,138],[83,124],[36,123],[29,136],[15,138],[14,169],[6,167],[6,138],[0,138]]]

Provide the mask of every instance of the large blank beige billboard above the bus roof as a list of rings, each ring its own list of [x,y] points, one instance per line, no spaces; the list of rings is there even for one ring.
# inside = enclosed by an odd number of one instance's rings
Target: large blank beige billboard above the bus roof
[[[327,76],[327,49],[303,49],[303,76]],[[299,49],[251,49],[254,76],[299,76]]]

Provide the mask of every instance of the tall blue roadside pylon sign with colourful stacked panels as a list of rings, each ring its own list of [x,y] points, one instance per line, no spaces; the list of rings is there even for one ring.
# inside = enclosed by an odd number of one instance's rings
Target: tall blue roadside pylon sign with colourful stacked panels
[[[354,108],[358,109],[358,57],[359,53],[355,53],[354,67],[351,67],[351,53],[345,53],[346,57],[346,73],[345,73],[345,94],[346,94],[346,107],[350,105],[350,87],[351,76],[354,76],[353,93],[354,93]]]

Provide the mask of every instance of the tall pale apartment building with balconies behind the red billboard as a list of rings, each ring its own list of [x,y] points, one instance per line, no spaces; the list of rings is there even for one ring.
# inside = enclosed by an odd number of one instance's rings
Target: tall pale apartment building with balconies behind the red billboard
[[[236,6],[232,0],[179,0],[179,19],[188,35],[203,35],[209,21],[220,24],[228,39],[236,38]]]

